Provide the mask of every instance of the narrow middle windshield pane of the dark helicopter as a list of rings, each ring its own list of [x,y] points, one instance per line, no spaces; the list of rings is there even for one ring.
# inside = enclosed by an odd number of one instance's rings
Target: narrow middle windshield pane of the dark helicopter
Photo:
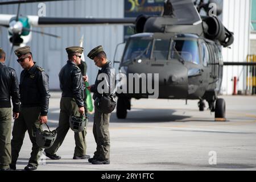
[[[167,59],[170,40],[155,39],[153,57],[155,59]]]

